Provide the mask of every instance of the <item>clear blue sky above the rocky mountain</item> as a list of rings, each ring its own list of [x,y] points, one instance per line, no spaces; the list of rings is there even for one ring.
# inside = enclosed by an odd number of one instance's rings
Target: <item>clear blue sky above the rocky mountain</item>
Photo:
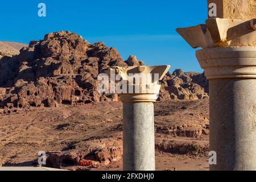
[[[47,16],[39,18],[38,4]],[[207,19],[207,0],[9,0],[0,2],[0,40],[28,44],[49,32],[69,30],[90,43],[115,47],[124,60],[202,72],[195,49],[176,33]]]

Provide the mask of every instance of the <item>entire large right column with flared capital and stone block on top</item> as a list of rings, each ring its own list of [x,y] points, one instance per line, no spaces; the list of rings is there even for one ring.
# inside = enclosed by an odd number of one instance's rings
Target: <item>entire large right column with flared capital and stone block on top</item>
[[[256,170],[255,1],[208,0],[205,24],[177,28],[209,80],[210,170]],[[216,12],[217,11],[217,12]]]

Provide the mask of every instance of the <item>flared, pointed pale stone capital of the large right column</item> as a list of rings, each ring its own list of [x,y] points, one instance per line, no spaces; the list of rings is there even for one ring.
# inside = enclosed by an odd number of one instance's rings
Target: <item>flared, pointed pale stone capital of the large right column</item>
[[[210,18],[206,24],[176,31],[192,48],[256,46],[256,19]]]

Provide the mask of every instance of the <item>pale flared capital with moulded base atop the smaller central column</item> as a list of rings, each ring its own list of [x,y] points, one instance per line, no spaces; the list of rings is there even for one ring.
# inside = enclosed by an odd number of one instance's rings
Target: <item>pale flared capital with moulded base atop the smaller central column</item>
[[[115,77],[121,80],[121,87],[118,94],[122,102],[155,102],[158,98],[164,75],[170,69],[170,65],[160,66],[139,66],[139,67],[113,67],[108,75],[114,73]],[[118,82],[115,81],[115,82]]]

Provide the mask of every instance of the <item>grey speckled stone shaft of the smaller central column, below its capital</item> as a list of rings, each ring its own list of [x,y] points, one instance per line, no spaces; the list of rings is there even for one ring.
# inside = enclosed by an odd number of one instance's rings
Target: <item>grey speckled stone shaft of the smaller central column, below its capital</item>
[[[155,95],[156,96],[156,95]],[[154,100],[121,95],[123,102],[123,170],[155,170]],[[147,100],[148,99],[148,100]]]

